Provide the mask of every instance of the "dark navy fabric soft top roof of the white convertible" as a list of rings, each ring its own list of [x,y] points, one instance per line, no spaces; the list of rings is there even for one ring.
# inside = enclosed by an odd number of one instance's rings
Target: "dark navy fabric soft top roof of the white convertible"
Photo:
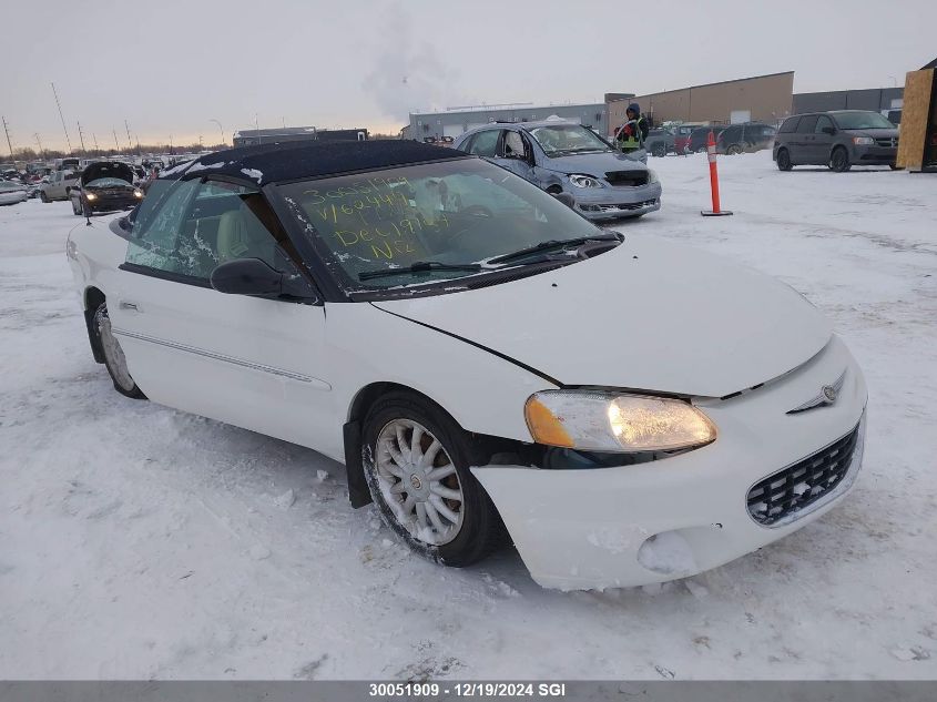
[[[164,171],[161,177],[176,180],[214,174],[266,185],[459,157],[469,156],[454,149],[409,140],[285,142],[217,151]]]

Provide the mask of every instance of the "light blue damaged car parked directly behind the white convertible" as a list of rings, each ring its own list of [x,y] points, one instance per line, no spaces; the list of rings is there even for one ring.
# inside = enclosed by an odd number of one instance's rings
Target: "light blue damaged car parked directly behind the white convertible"
[[[548,193],[568,193],[589,220],[640,217],[661,207],[656,173],[571,122],[492,123],[455,147],[488,159]]]

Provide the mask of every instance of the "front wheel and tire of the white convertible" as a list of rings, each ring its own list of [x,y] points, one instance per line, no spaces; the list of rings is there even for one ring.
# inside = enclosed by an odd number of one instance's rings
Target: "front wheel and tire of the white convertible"
[[[415,436],[420,458],[414,464]],[[482,560],[505,540],[491,498],[469,471],[469,456],[464,430],[417,395],[389,393],[365,418],[365,478],[381,519],[415,552],[456,568]]]

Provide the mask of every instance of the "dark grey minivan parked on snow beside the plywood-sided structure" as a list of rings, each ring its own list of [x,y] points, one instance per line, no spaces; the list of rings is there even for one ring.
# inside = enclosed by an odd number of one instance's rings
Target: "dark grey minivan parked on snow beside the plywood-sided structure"
[[[839,110],[795,114],[777,132],[772,157],[782,171],[795,165],[896,167],[898,129],[878,112]]]

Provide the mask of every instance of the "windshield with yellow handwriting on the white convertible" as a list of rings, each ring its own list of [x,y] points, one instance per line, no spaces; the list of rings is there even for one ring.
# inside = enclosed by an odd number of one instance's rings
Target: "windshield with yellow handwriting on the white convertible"
[[[277,190],[326,265],[353,291],[438,283],[542,262],[548,254],[487,263],[543,242],[602,234],[536,185],[480,159],[288,183]],[[576,261],[562,251],[554,255]]]

